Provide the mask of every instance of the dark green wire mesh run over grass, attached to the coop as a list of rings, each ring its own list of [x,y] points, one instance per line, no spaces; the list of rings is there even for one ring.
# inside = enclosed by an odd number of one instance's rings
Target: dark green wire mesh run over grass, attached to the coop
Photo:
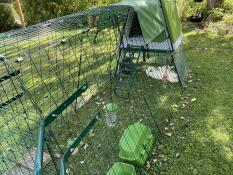
[[[87,91],[46,128],[44,152],[51,161],[44,173],[59,174],[62,155],[96,113],[96,125],[66,163],[67,174],[106,173],[120,161],[119,139],[130,124],[144,123],[158,136],[158,125],[172,115],[168,104],[175,97],[169,91],[179,86],[145,75],[145,67],[161,54],[148,54],[144,62],[143,49],[121,48],[132,13],[129,7],[101,7],[0,36],[2,174],[32,174],[35,152],[30,150],[37,145],[39,121],[84,82]],[[104,106],[110,102],[118,106],[113,128],[105,122]]]

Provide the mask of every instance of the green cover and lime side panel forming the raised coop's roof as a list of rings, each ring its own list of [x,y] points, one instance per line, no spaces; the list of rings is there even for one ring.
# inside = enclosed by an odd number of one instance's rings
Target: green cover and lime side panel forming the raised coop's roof
[[[164,13],[160,0],[123,0],[119,3],[134,8],[147,43],[154,41],[166,29],[165,19],[173,43],[182,33],[175,0],[161,0],[161,2]]]

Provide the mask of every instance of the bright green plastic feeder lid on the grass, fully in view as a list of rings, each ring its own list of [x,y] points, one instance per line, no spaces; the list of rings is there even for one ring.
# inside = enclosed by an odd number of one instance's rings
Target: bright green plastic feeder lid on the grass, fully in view
[[[153,150],[155,138],[143,124],[130,125],[120,139],[121,159],[143,166]]]

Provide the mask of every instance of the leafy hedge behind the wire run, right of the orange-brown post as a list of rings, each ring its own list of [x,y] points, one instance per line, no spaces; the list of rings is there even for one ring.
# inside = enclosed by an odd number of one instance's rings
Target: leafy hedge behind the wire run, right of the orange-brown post
[[[91,6],[109,4],[119,0],[22,0],[28,24],[83,11]]]

